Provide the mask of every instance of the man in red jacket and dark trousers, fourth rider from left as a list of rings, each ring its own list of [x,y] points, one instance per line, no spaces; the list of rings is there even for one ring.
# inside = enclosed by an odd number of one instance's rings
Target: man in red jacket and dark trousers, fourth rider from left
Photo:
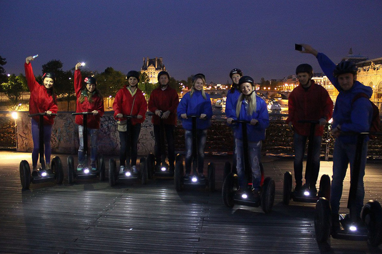
[[[169,149],[169,166],[170,170],[174,171],[174,129],[177,125],[179,96],[177,91],[169,86],[170,75],[167,71],[161,71],[158,73],[158,81],[159,87],[152,91],[149,99],[149,111],[155,113],[151,119],[151,122],[154,125],[155,160],[157,165],[160,165],[162,153],[164,153],[163,156],[165,156],[165,151],[161,151],[160,120],[162,119],[166,132],[167,146]],[[162,133],[162,135],[164,135],[164,133]]]

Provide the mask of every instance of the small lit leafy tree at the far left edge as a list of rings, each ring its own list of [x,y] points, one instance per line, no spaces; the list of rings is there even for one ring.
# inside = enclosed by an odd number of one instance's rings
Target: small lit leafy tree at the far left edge
[[[20,98],[23,92],[22,78],[12,74],[9,76],[8,82],[1,84],[1,88],[8,98],[7,104],[12,111],[15,111],[18,108],[18,104],[20,103]]]

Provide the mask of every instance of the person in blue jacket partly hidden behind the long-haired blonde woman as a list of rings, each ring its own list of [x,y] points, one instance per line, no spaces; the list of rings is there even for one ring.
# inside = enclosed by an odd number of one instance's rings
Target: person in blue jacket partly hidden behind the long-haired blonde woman
[[[238,68],[234,68],[229,72],[229,77],[232,80],[231,88],[227,93],[227,99],[225,101],[225,116],[227,119],[232,119],[236,115],[237,99],[240,96],[239,80],[243,76],[243,71]],[[233,142],[233,151],[235,152],[235,142]],[[232,168],[236,170],[236,156],[233,155]]]

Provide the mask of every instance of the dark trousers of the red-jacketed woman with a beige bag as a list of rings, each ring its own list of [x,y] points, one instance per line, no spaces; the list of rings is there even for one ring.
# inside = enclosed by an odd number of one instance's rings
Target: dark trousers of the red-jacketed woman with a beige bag
[[[137,165],[137,157],[138,157],[138,139],[139,133],[141,132],[141,124],[132,125],[130,128],[127,127],[127,131],[118,131],[119,132],[119,141],[120,141],[120,149],[119,149],[119,164],[120,166],[125,166],[130,163],[131,166]],[[127,143],[127,135],[131,134],[131,141]]]

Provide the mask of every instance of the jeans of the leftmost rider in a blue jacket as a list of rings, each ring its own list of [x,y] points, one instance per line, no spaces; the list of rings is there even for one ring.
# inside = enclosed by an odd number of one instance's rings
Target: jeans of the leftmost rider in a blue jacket
[[[197,145],[197,165],[196,165],[196,157],[192,158],[192,131],[185,129],[185,138],[186,138],[186,173],[191,173],[191,162],[193,159],[192,168],[196,169],[197,173],[203,173],[204,166],[204,147],[205,140],[207,137],[207,129],[197,129],[196,130],[196,145]]]

